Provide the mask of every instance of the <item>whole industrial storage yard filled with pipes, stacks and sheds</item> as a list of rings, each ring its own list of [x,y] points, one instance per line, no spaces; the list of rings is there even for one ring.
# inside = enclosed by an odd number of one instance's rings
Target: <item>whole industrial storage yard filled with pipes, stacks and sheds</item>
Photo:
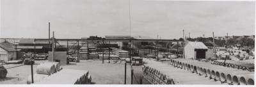
[[[90,38],[34,39],[34,42],[54,43],[50,44],[48,54],[35,51],[34,46],[31,48],[34,51],[25,52],[21,58],[3,61],[0,83],[254,85],[253,51],[236,47],[214,49],[202,42],[188,41],[184,47],[164,48],[170,42],[182,45],[179,40],[133,39],[128,40],[131,43],[126,47],[115,45],[115,42],[127,42],[124,39],[94,40],[99,42],[92,42]],[[61,43],[64,41],[66,43]],[[140,47],[138,42],[149,45]],[[61,51],[60,46],[67,48]]]

